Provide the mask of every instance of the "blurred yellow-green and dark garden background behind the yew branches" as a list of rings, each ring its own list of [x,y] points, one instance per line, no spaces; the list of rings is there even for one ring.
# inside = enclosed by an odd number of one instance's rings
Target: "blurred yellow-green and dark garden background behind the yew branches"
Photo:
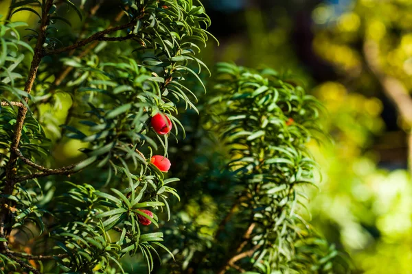
[[[9,3],[0,1],[0,14]],[[203,51],[209,66],[229,61],[292,72],[328,110],[323,123],[334,143],[312,144],[323,177],[320,190],[312,190],[314,226],[350,255],[356,273],[412,273],[411,121],[398,114],[387,90],[393,86],[384,81],[389,77],[396,80],[394,86],[412,88],[412,1],[203,3],[212,20],[209,31],[220,40],[220,47],[211,42]],[[112,5],[115,1],[106,1],[99,12],[109,14]],[[13,17],[34,20],[25,12]],[[372,58],[371,43],[379,48]],[[67,110],[69,97],[62,96],[61,104]],[[47,112],[47,105],[43,108]],[[65,115],[50,118],[58,124]],[[56,157],[70,162],[78,157],[78,147],[63,140]],[[197,212],[196,205],[192,208]],[[194,215],[200,223],[209,222],[209,214]]]

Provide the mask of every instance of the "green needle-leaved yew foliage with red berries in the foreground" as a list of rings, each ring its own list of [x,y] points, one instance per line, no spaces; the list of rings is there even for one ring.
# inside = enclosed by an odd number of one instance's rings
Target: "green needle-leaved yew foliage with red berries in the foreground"
[[[179,179],[159,163],[169,156],[169,138],[185,136],[177,114],[198,112],[199,92],[190,87],[206,90],[199,74],[207,66],[196,54],[213,37],[205,30],[210,21],[192,0],[118,5],[107,20],[95,16],[100,1],[12,1],[1,22],[0,273],[124,273],[124,258],[135,255],[148,271],[159,261],[203,273],[211,264],[219,273],[341,271],[332,264],[337,252],[301,216],[299,186],[315,183],[305,145],[321,132],[320,105],[275,71],[218,65],[213,99],[201,110],[211,110],[206,123],[229,149],[218,176],[230,184],[216,199],[236,199],[220,210],[227,215],[207,242],[181,229],[187,224],[179,225],[179,208],[170,205],[180,199],[172,187]],[[31,42],[21,38],[27,25],[10,20],[19,12],[39,18],[27,28]],[[74,164],[50,153],[67,138],[81,146]],[[240,238],[222,241],[233,222]],[[181,248],[176,236],[190,242]],[[184,249],[192,255],[182,260]]]

